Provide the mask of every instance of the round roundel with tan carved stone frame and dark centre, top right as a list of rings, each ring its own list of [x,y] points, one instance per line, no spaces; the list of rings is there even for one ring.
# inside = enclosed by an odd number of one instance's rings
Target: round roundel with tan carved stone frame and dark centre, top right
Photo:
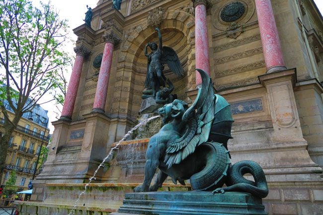
[[[231,23],[247,23],[255,11],[254,0],[221,0],[213,5],[213,26],[227,30]]]

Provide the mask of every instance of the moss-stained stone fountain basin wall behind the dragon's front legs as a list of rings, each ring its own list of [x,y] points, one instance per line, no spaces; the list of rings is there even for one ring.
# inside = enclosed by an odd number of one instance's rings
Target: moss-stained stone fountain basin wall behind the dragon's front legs
[[[122,206],[126,193],[132,193],[139,183],[92,183],[76,202],[85,183],[49,183],[44,187],[46,195],[42,203],[16,201],[21,215],[68,215],[73,209],[76,215],[108,215]],[[161,191],[189,191],[190,185],[164,183]],[[96,213],[96,214],[95,214]]]

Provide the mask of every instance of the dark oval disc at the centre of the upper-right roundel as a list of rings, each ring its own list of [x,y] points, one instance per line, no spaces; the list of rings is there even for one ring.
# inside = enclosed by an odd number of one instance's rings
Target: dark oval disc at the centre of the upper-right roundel
[[[225,22],[233,22],[242,17],[245,7],[242,2],[236,1],[224,6],[220,17]]]

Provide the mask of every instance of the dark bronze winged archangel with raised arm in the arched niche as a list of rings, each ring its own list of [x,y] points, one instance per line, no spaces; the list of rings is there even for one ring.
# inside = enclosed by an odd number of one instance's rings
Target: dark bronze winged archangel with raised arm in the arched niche
[[[165,83],[169,82],[169,80],[166,81],[166,77],[163,74],[164,64],[167,64],[169,69],[177,76],[184,75],[176,52],[170,47],[162,46],[161,31],[159,28],[155,29],[158,32],[159,47],[155,42],[148,43],[145,46],[145,56],[148,58],[148,65],[143,98],[156,98],[156,94],[161,90],[161,86],[166,87]],[[147,51],[148,46],[152,50],[149,54]]]

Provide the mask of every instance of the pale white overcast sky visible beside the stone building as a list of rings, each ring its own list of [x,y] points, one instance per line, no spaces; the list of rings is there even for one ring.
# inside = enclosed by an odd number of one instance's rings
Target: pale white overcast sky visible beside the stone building
[[[321,13],[323,11],[323,0],[314,0],[320,9]],[[33,0],[35,2],[35,5],[39,3],[39,0]],[[57,9],[58,13],[60,14],[60,17],[66,18],[69,20],[70,25],[70,35],[71,38],[76,41],[77,37],[74,35],[72,29],[80,26],[84,23],[83,19],[85,18],[85,12],[87,11],[86,5],[88,5],[91,8],[94,8],[96,6],[96,3],[98,0],[52,0],[51,3],[54,5],[54,7]],[[72,55],[74,54],[73,48],[75,44],[71,43],[68,44],[67,47],[69,47],[69,50]],[[72,71],[71,71],[72,72]],[[55,118],[57,114],[55,114],[53,111],[56,110],[56,108],[53,108],[55,104],[54,103],[48,103],[42,105],[42,107],[46,110],[48,110],[48,115],[50,118],[50,122],[56,121]],[[57,111],[56,111],[57,112]],[[54,127],[50,123],[49,125],[50,133],[53,133]]]

